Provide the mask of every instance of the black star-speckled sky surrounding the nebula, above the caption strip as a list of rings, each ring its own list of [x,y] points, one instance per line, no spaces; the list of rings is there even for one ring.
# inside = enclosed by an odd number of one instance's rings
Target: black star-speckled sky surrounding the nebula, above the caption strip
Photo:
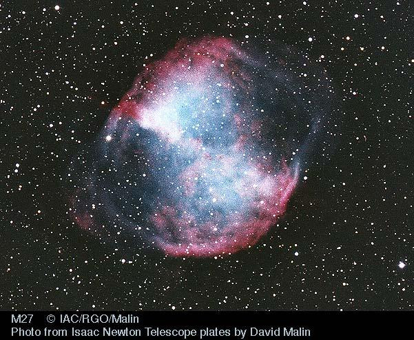
[[[0,5],[2,309],[413,308],[409,1]],[[320,60],[340,108],[333,156],[315,160],[280,226],[231,257],[183,260],[99,243],[68,214],[70,161],[143,63],[207,34],[280,41]]]

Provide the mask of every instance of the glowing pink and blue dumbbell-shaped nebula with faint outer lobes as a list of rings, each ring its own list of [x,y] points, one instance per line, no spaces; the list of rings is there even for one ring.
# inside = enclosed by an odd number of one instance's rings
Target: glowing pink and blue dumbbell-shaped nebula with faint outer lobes
[[[309,63],[222,37],[178,42],[144,66],[74,160],[76,223],[175,257],[254,245],[320,143],[330,87]]]

